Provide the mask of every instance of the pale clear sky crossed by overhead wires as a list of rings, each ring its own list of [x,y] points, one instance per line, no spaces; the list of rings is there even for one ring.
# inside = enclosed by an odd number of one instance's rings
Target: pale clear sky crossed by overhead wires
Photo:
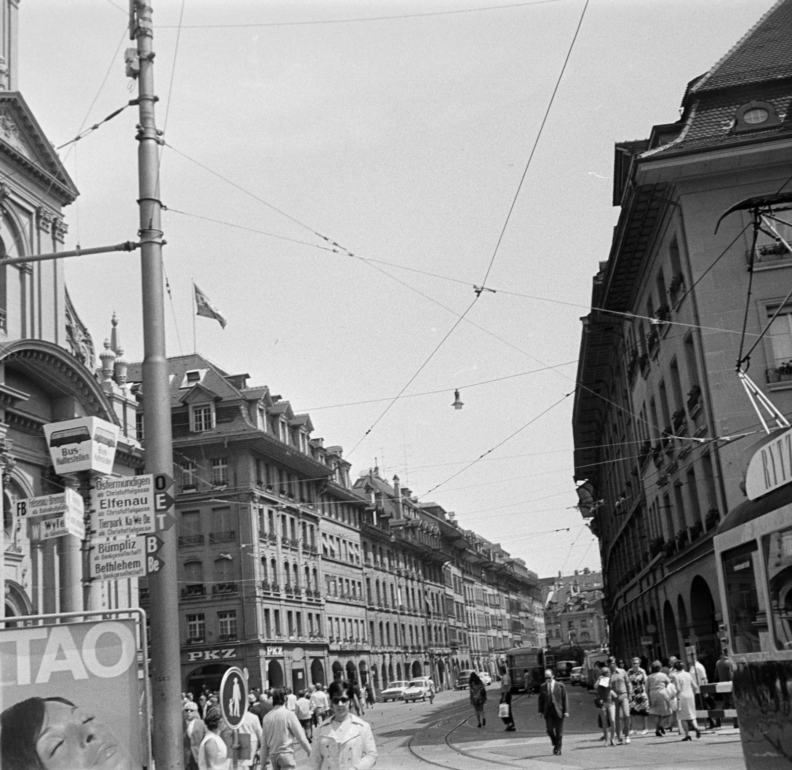
[[[249,373],[353,478],[398,474],[540,576],[599,569],[571,421],[614,143],[676,120],[771,0],[150,4],[169,355]],[[20,90],[55,146],[135,97],[126,5],[21,3]],[[135,239],[136,122],[59,151],[67,249]],[[139,256],[66,274],[97,348],[116,312],[140,360]]]

